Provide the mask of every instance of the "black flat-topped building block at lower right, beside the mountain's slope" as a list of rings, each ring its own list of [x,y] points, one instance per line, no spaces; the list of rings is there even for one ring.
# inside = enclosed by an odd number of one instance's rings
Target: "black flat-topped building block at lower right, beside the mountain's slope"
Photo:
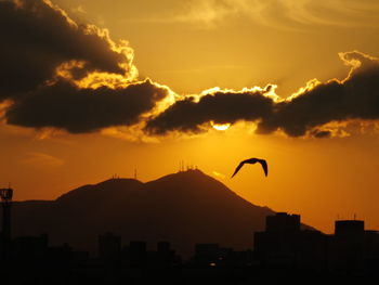
[[[379,269],[379,234],[360,220],[336,221],[331,235],[301,230],[300,216],[278,212],[254,233],[254,255],[265,269],[365,274]]]

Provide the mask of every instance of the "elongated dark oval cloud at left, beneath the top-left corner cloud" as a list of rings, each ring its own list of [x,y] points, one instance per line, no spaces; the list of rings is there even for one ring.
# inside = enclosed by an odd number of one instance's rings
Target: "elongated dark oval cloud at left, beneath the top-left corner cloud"
[[[129,126],[151,111],[168,90],[146,80],[126,88],[78,88],[61,80],[44,86],[6,111],[8,124],[23,127],[53,127],[71,133],[96,131],[112,126]]]

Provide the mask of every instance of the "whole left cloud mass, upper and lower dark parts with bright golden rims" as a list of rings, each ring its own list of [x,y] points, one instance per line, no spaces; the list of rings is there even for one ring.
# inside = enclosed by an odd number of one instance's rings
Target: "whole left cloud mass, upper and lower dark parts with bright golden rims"
[[[168,89],[136,81],[133,50],[50,1],[0,1],[0,100],[8,124],[71,133],[129,126]]]

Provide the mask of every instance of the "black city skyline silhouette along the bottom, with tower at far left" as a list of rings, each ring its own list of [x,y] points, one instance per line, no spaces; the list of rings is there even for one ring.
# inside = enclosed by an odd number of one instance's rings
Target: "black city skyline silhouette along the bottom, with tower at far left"
[[[99,252],[50,245],[49,235],[11,235],[13,191],[2,193],[0,268],[2,284],[239,284],[270,276],[375,276],[379,270],[379,233],[362,220],[338,220],[335,233],[303,230],[300,215],[277,212],[253,234],[253,247],[235,251],[218,243],[194,243],[193,257],[183,260],[168,241],[148,250],[144,241],[114,233],[97,236]],[[4,207],[5,206],[5,207]],[[283,276],[283,275],[280,275]]]

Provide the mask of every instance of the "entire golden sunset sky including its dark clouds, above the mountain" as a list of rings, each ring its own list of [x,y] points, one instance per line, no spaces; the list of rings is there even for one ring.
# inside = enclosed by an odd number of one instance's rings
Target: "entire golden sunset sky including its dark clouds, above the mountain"
[[[0,186],[53,199],[184,160],[325,233],[379,230],[378,35],[376,0],[0,0]],[[250,157],[269,177],[230,179]]]

